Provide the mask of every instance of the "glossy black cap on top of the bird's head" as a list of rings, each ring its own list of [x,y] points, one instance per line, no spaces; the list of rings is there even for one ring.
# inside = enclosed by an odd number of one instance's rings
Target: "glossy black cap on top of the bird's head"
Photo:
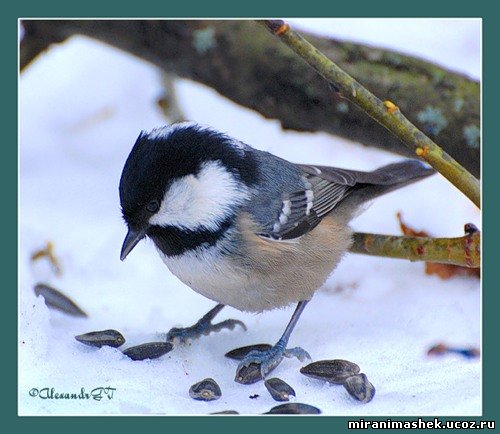
[[[196,175],[207,161],[220,161],[247,185],[256,181],[251,153],[230,137],[196,124],[173,124],[141,132],[120,179],[120,203],[129,227],[141,228],[151,215],[152,201],[161,203],[168,186],[186,175]]]

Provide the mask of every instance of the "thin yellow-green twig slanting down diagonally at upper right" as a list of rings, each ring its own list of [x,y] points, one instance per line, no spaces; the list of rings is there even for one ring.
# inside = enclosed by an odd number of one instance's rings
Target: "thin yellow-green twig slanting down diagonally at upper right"
[[[284,21],[264,20],[262,23],[334,86],[343,97],[352,101],[392,132],[413,149],[418,157],[426,160],[477,207],[480,207],[479,181],[403,116],[394,103],[382,102],[302,36],[291,30]]]

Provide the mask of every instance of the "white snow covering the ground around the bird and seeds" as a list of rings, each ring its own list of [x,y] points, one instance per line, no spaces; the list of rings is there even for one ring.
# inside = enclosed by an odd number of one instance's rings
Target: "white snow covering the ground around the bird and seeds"
[[[297,20],[292,20],[294,23]],[[387,26],[390,24],[390,38]],[[343,38],[390,45],[480,76],[478,20],[303,20],[297,25]],[[338,29],[338,33],[336,30]],[[196,294],[162,264],[151,242],[120,262],[125,226],[118,181],[142,129],[167,123],[157,108],[161,76],[152,66],[84,38],[52,48],[20,79],[19,414],[206,414],[234,409],[259,414],[278,403],[262,382],[234,382],[236,363],[224,354],[254,343],[274,343],[293,307],[260,315],[232,308],[218,319],[243,320],[248,331],[222,331],[176,347],[160,359],[134,362],[118,349],[95,349],[77,334],[114,328],[123,346],[159,340],[173,326],[191,325],[214,303]],[[181,80],[179,101],[191,120],[302,163],[373,169],[400,157],[327,134],[281,131],[277,121],[227,101],[211,89]],[[460,236],[480,227],[480,213],[440,176],[378,199],[355,230],[399,234],[396,213],[436,236]],[[52,241],[62,266],[30,255]],[[33,286],[46,282],[88,314],[75,319],[49,310]],[[479,415],[481,363],[459,356],[430,358],[446,342],[479,347],[480,284],[475,278],[441,280],[422,263],[346,255],[308,305],[290,346],[313,360],[347,359],[361,366],[377,393],[359,404],[341,386],[299,373],[285,359],[274,371],[297,392],[297,402],[329,415]],[[197,381],[214,378],[222,398],[188,395]],[[33,388],[79,393],[116,390],[100,401],[41,399]],[[258,394],[259,397],[249,399]]]

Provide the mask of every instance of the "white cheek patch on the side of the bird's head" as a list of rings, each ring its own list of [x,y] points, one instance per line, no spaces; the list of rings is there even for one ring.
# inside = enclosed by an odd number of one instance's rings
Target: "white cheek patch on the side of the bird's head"
[[[244,184],[221,163],[210,161],[202,165],[198,175],[174,181],[149,222],[158,226],[215,231],[247,198]]]

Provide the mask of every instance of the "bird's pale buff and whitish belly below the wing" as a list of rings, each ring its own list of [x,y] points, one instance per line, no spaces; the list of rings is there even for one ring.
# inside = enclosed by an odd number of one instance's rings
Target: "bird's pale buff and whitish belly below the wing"
[[[330,217],[296,242],[262,239],[244,224],[240,234],[244,248],[238,255],[224,254],[227,246],[218,244],[177,256],[158,252],[196,292],[239,310],[262,312],[309,300],[351,244],[345,222]]]

